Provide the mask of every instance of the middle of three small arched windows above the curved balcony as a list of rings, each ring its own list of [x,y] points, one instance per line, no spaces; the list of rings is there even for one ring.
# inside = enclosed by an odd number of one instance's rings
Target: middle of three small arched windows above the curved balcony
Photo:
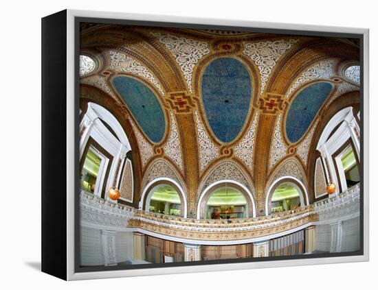
[[[247,200],[232,187],[216,189],[205,205],[205,219],[243,219],[247,217]]]

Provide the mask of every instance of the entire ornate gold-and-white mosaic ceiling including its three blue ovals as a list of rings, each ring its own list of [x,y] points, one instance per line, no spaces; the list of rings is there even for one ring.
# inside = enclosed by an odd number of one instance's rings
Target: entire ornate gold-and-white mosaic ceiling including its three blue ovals
[[[359,90],[359,70],[340,69],[359,62],[359,49],[337,38],[88,23],[81,33],[91,60],[80,82],[129,122],[140,192],[164,172],[189,208],[219,168],[232,168],[225,178],[250,189],[257,208],[275,176],[307,184],[320,115]]]

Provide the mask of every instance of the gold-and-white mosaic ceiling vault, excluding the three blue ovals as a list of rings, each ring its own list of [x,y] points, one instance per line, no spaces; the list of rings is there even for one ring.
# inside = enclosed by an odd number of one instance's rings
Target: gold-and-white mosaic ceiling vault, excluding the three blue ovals
[[[359,90],[341,74],[346,63],[359,62],[359,49],[352,40],[86,23],[80,41],[82,53],[99,62],[95,71],[81,78],[81,87],[87,95],[94,91],[89,86],[101,90],[107,101],[100,104],[110,106],[128,124],[140,160],[140,176],[145,176],[156,160],[172,167],[184,183],[188,213],[190,209],[195,212],[205,177],[222,162],[232,162],[251,182],[257,208],[264,208],[266,186],[288,159],[300,168],[305,180],[312,166],[308,160],[312,160],[319,116],[330,104],[338,104],[340,95]],[[248,104],[243,104],[248,106],[243,108],[247,110],[245,121],[227,142],[214,134],[201,83],[205,70],[221,58],[240,62],[251,86]],[[298,81],[301,75],[328,64],[331,73],[325,79],[319,74]],[[148,138],[113,86],[120,75],[144,84],[159,100],[166,123],[162,141],[154,143]],[[329,82],[333,89],[303,136],[291,143],[284,131],[287,111],[301,90],[320,81]],[[216,95],[216,84],[212,90]],[[224,97],[227,106],[232,98]],[[142,180],[138,185],[140,194]]]

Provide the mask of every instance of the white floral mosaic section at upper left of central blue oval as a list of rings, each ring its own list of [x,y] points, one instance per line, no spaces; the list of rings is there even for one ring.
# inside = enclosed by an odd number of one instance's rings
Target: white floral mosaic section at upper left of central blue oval
[[[192,72],[195,64],[197,64],[205,54],[210,53],[208,43],[171,34],[161,34],[157,32],[151,32],[151,34],[173,53],[181,71],[184,73],[189,91],[192,93]]]

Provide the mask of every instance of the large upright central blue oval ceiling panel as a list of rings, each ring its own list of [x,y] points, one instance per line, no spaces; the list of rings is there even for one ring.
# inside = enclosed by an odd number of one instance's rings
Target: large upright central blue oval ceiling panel
[[[201,88],[212,132],[224,143],[233,141],[247,119],[252,94],[244,64],[234,58],[213,60],[203,73]]]

